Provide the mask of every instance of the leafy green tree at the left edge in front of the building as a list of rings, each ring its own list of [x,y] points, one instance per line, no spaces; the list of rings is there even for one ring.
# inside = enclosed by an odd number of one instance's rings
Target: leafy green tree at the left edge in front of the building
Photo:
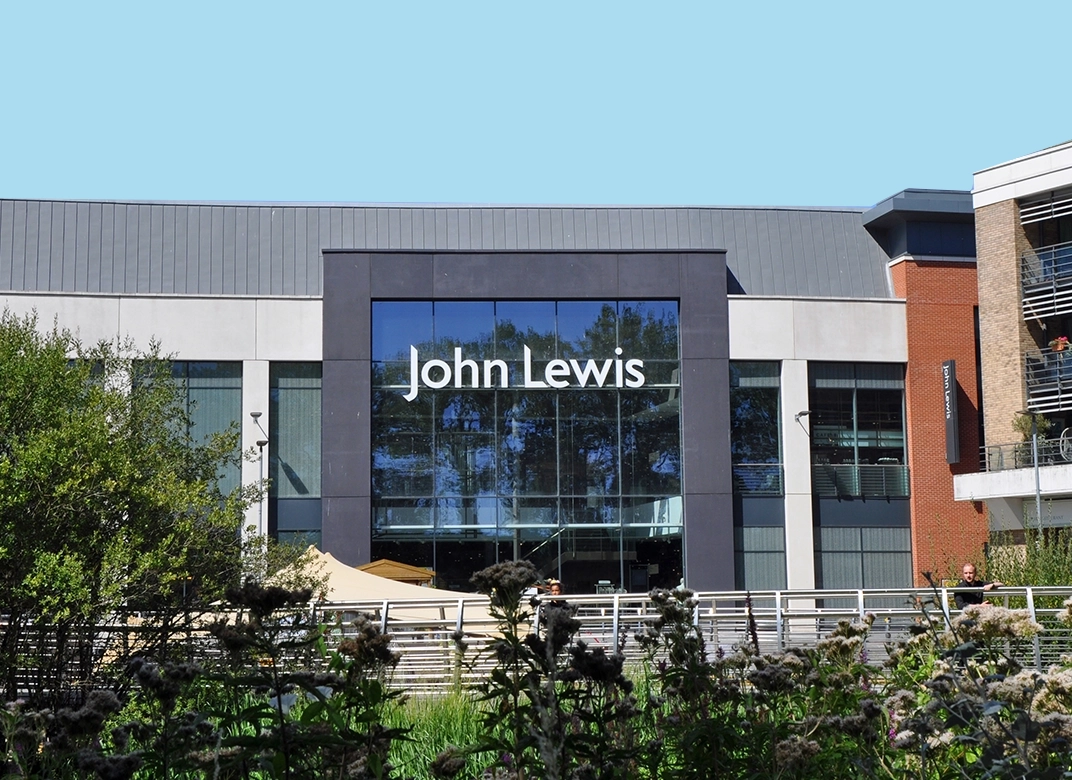
[[[259,485],[224,495],[233,430],[191,434],[184,388],[159,345],[83,345],[0,315],[0,686],[56,698],[101,657],[95,628],[168,614],[152,642],[241,579],[241,528]],[[122,635],[126,640],[129,635]],[[33,646],[36,643],[36,646]],[[27,658],[31,660],[28,664]],[[35,666],[33,680],[19,668]],[[72,677],[74,675],[74,677]]]

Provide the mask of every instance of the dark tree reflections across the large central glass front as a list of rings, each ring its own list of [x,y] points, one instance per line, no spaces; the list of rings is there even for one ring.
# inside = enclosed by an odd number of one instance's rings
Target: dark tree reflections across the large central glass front
[[[594,315],[590,324],[576,316],[570,320],[570,333],[583,335],[569,343],[556,342],[559,326],[552,325],[549,331],[545,319],[527,320],[522,315],[519,325],[507,317],[496,318],[493,334],[468,340],[452,340],[438,328],[440,357],[453,368],[453,347],[460,347],[463,359],[478,363],[483,385],[481,361],[507,360],[511,371],[520,373],[525,345],[532,350],[534,378],[538,379],[548,359],[592,359],[601,364],[615,359],[614,348],[621,345],[622,359],[645,361],[650,382],[676,382],[675,303],[612,302],[589,311]],[[548,319],[554,322],[550,315]],[[422,363],[435,355],[430,341],[415,346]],[[407,403],[399,389],[408,386],[407,363],[373,363],[372,373],[373,494],[377,497],[408,498],[414,506],[434,505],[446,511],[448,505],[443,501],[471,496],[494,500],[497,496],[497,523],[509,527],[512,523],[582,522],[583,518],[572,516],[578,513],[612,522],[623,495],[647,500],[681,493],[675,389],[617,391],[610,387],[612,368],[604,388],[477,390],[458,389],[451,382],[441,390],[421,387],[417,400]],[[520,376],[511,376],[511,381],[519,380]],[[471,382],[468,371],[464,382]],[[539,508],[526,509],[526,496],[538,501]],[[600,496],[602,509],[593,514],[595,496]],[[475,516],[457,508],[447,513]]]

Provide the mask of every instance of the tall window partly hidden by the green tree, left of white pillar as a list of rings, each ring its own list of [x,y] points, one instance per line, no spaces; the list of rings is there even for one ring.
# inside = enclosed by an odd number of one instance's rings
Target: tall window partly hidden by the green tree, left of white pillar
[[[242,364],[240,362],[172,363],[172,376],[187,390],[191,434],[202,441],[238,425],[242,417]],[[236,452],[236,454],[238,454]],[[230,492],[241,483],[241,466],[224,466],[220,489]]]

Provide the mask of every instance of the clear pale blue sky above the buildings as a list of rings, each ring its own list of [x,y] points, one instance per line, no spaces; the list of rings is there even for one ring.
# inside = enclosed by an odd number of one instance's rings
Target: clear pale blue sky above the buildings
[[[870,206],[1072,138],[1072,3],[6,3],[0,197]]]

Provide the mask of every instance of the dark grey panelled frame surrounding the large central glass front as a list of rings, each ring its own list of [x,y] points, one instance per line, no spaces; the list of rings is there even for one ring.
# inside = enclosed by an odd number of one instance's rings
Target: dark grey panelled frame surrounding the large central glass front
[[[726,253],[324,251],[323,545],[370,560],[373,300],[676,299],[685,579],[732,590]]]

